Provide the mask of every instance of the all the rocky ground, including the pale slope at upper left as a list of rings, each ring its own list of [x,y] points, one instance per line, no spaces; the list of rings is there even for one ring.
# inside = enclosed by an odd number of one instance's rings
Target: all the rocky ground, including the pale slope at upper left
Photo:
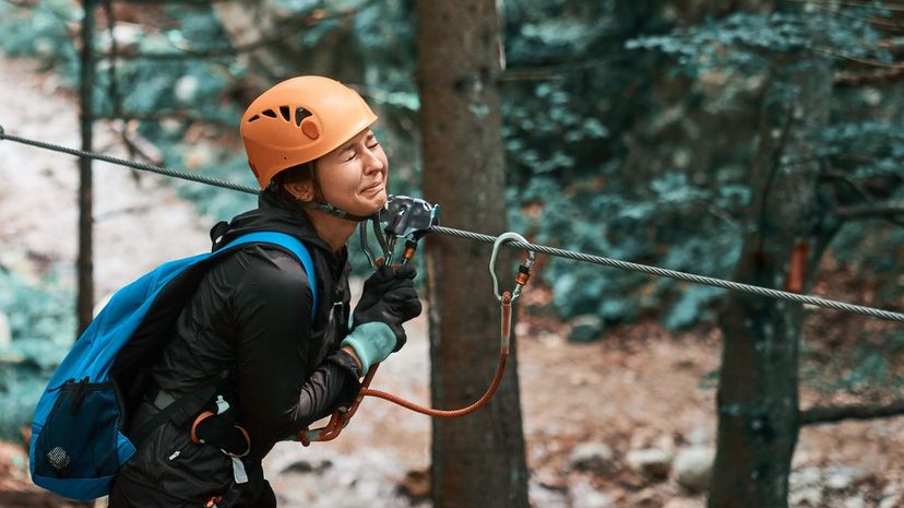
[[[52,75],[0,59],[0,125],[67,145],[79,142],[73,97]],[[121,153],[98,127],[98,146]],[[96,277],[106,294],[163,260],[207,248],[195,216],[159,178],[97,165]],[[39,273],[75,257],[72,157],[0,142],[0,264]],[[532,471],[543,508],[703,507],[715,434],[719,336],[673,334],[644,322],[587,344],[570,327],[528,318],[520,329],[520,382]],[[381,368],[374,387],[426,401],[426,322]],[[488,373],[489,379],[490,373]],[[809,403],[820,397],[805,391]],[[368,400],[342,438],[282,444],[265,463],[284,507],[427,507],[429,421]],[[807,427],[792,477],[792,505],[904,506],[904,418]],[[32,487],[22,445],[0,444],[0,507],[73,506]],[[99,501],[96,506],[105,506]]]

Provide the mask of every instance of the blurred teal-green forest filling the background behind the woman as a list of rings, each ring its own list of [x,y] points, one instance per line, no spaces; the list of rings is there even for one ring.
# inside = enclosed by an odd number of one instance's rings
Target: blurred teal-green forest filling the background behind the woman
[[[120,130],[131,157],[250,184],[235,119],[272,83],[318,73],[376,106],[392,190],[423,193],[414,2],[97,5],[95,117]],[[902,307],[904,4],[509,0],[498,14],[505,191],[497,199],[509,229],[538,244]],[[81,16],[71,1],[0,3],[0,48],[78,88]],[[249,205],[236,193],[171,185],[204,216]],[[770,203],[771,189],[794,210]],[[794,227],[772,227],[783,218]],[[777,246],[763,249],[774,273],[744,272],[754,234]],[[38,282],[0,267],[5,438],[27,424],[72,341],[72,267],[52,260]],[[649,322],[701,335],[731,327],[733,303],[712,287],[559,259],[533,284],[525,320],[563,323],[557,330],[573,342]],[[760,310],[757,319],[774,321]],[[895,404],[900,326],[796,311],[805,388]],[[789,358],[796,371],[796,350]],[[712,371],[701,383],[718,378]]]

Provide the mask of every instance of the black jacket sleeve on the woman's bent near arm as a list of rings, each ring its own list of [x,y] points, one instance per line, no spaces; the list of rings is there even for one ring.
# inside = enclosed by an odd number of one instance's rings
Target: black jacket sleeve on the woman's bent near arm
[[[359,389],[354,359],[330,354],[308,371],[311,290],[298,261],[260,246],[236,257],[243,275],[231,298],[241,421],[251,453],[297,434],[354,399]]]

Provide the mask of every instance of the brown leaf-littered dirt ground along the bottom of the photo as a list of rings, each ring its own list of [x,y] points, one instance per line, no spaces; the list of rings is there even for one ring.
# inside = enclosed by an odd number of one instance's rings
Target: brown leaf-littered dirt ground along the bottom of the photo
[[[581,504],[582,488],[610,501],[599,506],[704,506],[704,495],[681,487],[674,474],[653,480],[633,471],[626,456],[714,442],[716,332],[674,335],[644,323],[599,342],[572,344],[559,333],[522,329],[528,332],[519,362],[535,507],[596,506]],[[426,400],[427,379],[420,377],[426,369],[405,368],[426,353],[424,335],[413,331],[415,347],[407,358],[400,354],[393,368],[388,362],[374,385]],[[570,456],[585,442],[607,445],[611,461],[579,471]],[[806,427],[794,460],[792,506],[904,506],[902,445],[902,418]],[[281,506],[426,507],[426,484],[416,473],[426,471],[428,450],[425,417],[368,400],[340,440],[308,449],[281,444],[266,470]],[[0,446],[0,506],[68,506],[29,487],[24,468],[21,447]]]

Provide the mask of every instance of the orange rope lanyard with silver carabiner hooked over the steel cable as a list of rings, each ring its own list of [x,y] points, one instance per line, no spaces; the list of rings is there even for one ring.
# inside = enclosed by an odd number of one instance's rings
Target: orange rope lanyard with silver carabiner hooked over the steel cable
[[[421,200],[414,200],[413,198],[401,197],[403,200],[413,200],[417,203],[417,209],[421,211],[427,211],[430,208],[429,203],[423,202]],[[392,200],[390,200],[392,201]],[[409,203],[411,201],[403,201],[405,203]],[[399,209],[399,206],[388,205],[384,206],[384,210],[389,209]],[[408,208],[412,210],[412,208]],[[397,212],[396,212],[397,213]],[[404,213],[404,212],[403,212]],[[395,217],[396,215],[392,215]],[[430,224],[436,225],[435,221],[437,220],[436,215],[430,214]],[[390,234],[390,228],[386,227],[383,229],[386,234]],[[402,232],[402,229],[395,229]],[[379,236],[379,235],[378,235]],[[304,429],[298,434],[297,439],[301,441],[304,446],[310,446],[311,442],[314,441],[329,441],[331,439],[335,439],[342,433],[343,428],[348,425],[348,422],[352,420],[352,416],[358,411],[358,406],[360,406],[361,400],[365,397],[376,397],[379,399],[388,400],[394,404],[399,404],[405,409],[412,410],[416,413],[425,414],[427,416],[432,416],[437,418],[455,418],[459,416],[465,416],[475,411],[479,410],[484,405],[492,399],[492,395],[496,394],[497,389],[499,388],[499,383],[502,382],[502,376],[505,374],[505,363],[509,359],[509,344],[511,342],[511,330],[512,330],[512,304],[521,296],[521,291],[527,284],[527,281],[531,279],[531,268],[534,265],[534,261],[536,260],[536,253],[533,251],[527,251],[527,258],[518,270],[518,276],[515,276],[515,286],[512,291],[505,291],[503,293],[499,293],[499,281],[496,277],[496,258],[499,253],[500,247],[502,247],[507,243],[511,241],[522,241],[526,243],[523,236],[519,235],[518,233],[504,233],[500,235],[492,246],[492,255],[490,256],[489,262],[489,272],[490,276],[492,277],[492,291],[496,299],[499,300],[500,306],[500,317],[501,317],[501,326],[500,326],[500,346],[499,346],[499,365],[496,367],[496,374],[492,377],[492,380],[487,387],[487,390],[471,405],[465,407],[456,409],[456,410],[438,410],[433,407],[427,407],[415,402],[407,401],[402,399],[399,395],[394,395],[392,393],[388,393],[381,390],[373,390],[370,388],[370,382],[373,380],[373,376],[377,374],[377,367],[380,364],[376,364],[370,367],[370,370],[365,376],[365,379],[361,381],[361,389],[358,392],[358,397],[348,407],[340,407],[330,416],[330,422],[326,426],[316,429]],[[416,249],[416,247],[415,247]],[[406,253],[408,252],[408,246],[405,249]],[[391,251],[388,253],[386,259],[391,259]],[[406,257],[405,260],[411,260],[414,257],[414,250],[412,250],[411,257]]]

